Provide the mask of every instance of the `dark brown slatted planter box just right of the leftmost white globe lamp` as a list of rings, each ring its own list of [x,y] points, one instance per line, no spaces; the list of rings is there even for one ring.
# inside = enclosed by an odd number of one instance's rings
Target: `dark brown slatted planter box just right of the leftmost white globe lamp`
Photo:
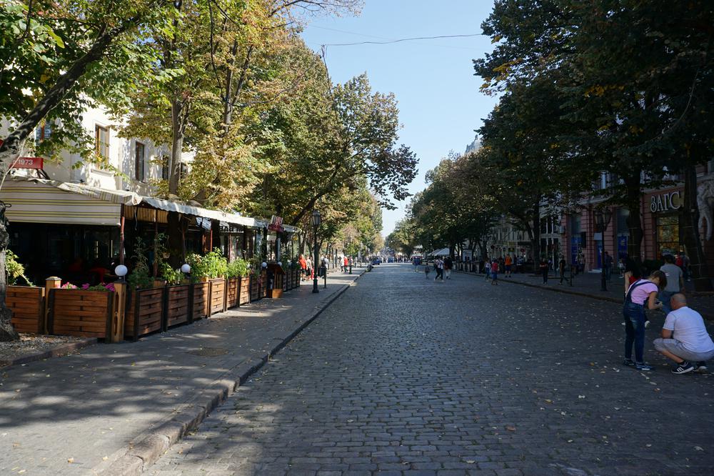
[[[126,297],[124,337],[139,336],[161,330],[164,324],[164,288],[135,289]]]

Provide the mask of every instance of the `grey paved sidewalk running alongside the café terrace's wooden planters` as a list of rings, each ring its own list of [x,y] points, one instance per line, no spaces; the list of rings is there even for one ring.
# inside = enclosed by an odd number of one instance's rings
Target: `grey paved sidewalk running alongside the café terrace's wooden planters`
[[[0,383],[0,473],[139,474],[365,271],[332,272],[319,294],[303,282],[281,299],[139,342],[9,367]]]

